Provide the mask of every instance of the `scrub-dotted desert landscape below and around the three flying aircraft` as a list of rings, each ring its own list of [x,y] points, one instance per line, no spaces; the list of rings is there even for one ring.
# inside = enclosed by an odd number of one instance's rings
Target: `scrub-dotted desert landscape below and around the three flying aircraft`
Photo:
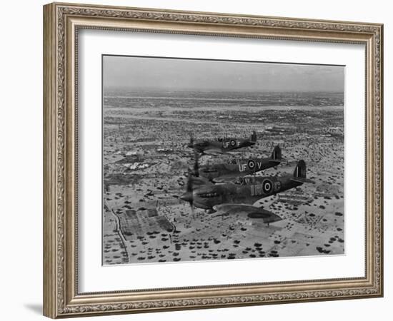
[[[344,94],[334,92],[129,91],[103,97],[104,265],[344,254]],[[195,138],[249,137],[257,145],[200,163],[268,157],[257,175],[292,173],[304,184],[257,202],[282,220],[217,216],[179,199]]]

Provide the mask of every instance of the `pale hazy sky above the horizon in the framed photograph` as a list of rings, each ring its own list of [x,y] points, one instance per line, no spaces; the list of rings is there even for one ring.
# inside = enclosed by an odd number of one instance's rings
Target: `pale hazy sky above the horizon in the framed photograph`
[[[344,91],[343,66],[104,56],[104,86],[169,91]]]

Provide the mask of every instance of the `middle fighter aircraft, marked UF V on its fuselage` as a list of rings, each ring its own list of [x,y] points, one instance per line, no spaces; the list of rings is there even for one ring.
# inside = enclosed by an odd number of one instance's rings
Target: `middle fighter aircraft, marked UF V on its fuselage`
[[[195,156],[193,175],[206,178],[213,183],[222,183],[239,176],[251,175],[261,170],[276,167],[282,161],[281,148],[274,147],[270,158],[242,158],[229,163],[199,166],[198,154]]]

